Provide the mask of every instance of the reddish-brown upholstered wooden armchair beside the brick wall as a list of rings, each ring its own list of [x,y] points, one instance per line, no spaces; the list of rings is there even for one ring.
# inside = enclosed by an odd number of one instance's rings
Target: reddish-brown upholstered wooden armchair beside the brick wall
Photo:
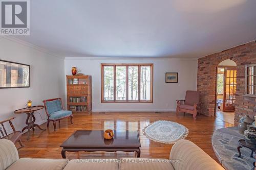
[[[200,111],[200,91],[186,91],[185,100],[177,100],[177,115],[180,112],[193,114],[194,120],[196,120],[197,112]],[[200,112],[199,112],[200,114]]]

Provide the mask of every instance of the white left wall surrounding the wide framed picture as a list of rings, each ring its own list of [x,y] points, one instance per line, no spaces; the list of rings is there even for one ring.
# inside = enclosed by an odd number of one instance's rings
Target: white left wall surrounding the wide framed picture
[[[13,121],[16,130],[25,127],[25,114],[14,114],[24,108],[28,100],[32,105],[43,105],[42,100],[65,99],[64,58],[36,50],[22,42],[0,37],[0,59],[30,65],[30,87],[0,89],[0,120],[16,116]],[[45,110],[34,113],[37,124],[46,122]],[[7,124],[6,124],[7,125]],[[9,127],[9,126],[7,126]],[[10,131],[10,128],[8,128]]]

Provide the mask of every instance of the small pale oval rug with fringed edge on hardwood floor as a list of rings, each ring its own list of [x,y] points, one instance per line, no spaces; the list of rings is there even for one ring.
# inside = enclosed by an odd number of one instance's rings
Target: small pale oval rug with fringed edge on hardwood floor
[[[143,134],[156,142],[173,144],[188,135],[188,129],[176,122],[158,120],[143,129]]]

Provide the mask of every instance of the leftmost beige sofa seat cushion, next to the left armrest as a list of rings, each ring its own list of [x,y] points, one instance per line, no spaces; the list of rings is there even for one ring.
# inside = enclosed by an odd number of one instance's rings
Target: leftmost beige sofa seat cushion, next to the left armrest
[[[68,162],[68,159],[20,158],[7,170],[62,170]]]

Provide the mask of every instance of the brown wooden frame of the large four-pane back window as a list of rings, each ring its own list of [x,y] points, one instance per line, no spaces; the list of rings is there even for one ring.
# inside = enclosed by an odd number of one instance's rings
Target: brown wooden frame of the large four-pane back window
[[[113,101],[105,101],[104,100],[104,66],[114,66],[114,100]],[[116,100],[116,66],[126,66],[126,75],[128,73],[129,66],[138,66],[138,100],[133,101],[129,100],[129,77],[126,76],[126,100],[125,101],[118,101]],[[140,68],[141,66],[150,66],[151,67],[151,79],[150,79],[150,100],[140,100]],[[154,64],[101,64],[101,103],[153,103],[153,80],[154,80]]]

